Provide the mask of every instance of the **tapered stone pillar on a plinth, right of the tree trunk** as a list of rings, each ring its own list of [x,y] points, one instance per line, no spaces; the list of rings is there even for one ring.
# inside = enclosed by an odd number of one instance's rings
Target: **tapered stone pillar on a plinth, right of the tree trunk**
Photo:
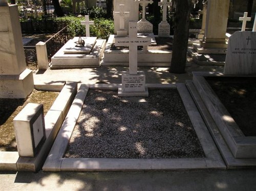
[[[227,19],[230,0],[208,0],[204,39],[200,45],[204,49],[225,49]]]

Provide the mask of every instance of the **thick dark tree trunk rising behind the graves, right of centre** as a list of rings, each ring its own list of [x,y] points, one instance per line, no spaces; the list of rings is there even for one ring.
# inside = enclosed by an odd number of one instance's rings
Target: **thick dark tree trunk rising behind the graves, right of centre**
[[[179,0],[174,17],[175,31],[170,73],[185,73],[191,0]]]

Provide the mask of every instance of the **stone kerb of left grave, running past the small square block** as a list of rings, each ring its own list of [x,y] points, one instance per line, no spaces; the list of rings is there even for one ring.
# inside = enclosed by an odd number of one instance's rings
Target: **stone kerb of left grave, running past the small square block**
[[[66,85],[65,85],[66,84]],[[0,171],[32,171],[36,172],[40,169],[42,163],[44,162],[46,155],[48,154],[53,141],[58,133],[58,130],[64,120],[62,117],[62,112],[67,113],[69,107],[74,99],[74,94],[77,91],[77,83],[74,82],[49,82],[40,83],[34,85],[37,90],[50,90],[50,91],[65,91],[65,95],[68,100],[67,102],[62,101],[62,110],[50,109],[45,116],[45,127],[47,139],[42,146],[40,152],[34,158],[29,157],[19,157],[18,152],[0,152]],[[67,93],[69,89],[70,93]],[[63,93],[60,93],[63,94]],[[63,97],[57,97],[55,102],[62,100]],[[54,104],[56,104],[54,102]]]

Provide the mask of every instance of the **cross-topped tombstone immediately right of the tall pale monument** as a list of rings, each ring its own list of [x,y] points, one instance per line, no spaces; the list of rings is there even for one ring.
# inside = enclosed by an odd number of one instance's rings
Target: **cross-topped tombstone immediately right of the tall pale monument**
[[[138,21],[138,33],[153,33],[153,25],[145,19],[146,6],[153,4],[152,0],[140,0],[138,3],[142,6],[142,19]]]

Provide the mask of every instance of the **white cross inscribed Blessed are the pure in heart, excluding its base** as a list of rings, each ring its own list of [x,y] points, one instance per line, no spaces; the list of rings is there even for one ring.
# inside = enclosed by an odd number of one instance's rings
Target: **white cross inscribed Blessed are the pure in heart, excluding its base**
[[[150,37],[137,37],[137,21],[129,22],[129,37],[116,37],[115,46],[129,46],[129,73],[137,74],[137,46],[151,45]]]

